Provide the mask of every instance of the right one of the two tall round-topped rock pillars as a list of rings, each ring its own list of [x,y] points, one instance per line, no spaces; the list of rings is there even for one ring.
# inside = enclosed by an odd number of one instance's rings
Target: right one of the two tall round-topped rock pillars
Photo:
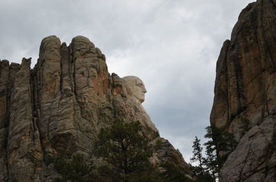
[[[75,96],[81,107],[81,116],[92,125],[97,122],[97,95],[99,61],[95,45],[88,38],[72,39],[72,58],[75,65]]]

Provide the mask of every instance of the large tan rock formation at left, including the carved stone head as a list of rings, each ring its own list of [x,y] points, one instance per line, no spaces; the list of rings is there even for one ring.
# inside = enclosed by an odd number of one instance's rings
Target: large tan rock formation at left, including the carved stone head
[[[39,59],[0,62],[0,181],[52,181],[48,156],[64,151],[91,159],[97,134],[115,120],[139,120],[155,148],[152,163],[169,161],[191,176],[179,151],[159,137],[141,102],[144,83],[108,73],[106,58],[88,38],[69,46],[56,36],[41,42]]]

